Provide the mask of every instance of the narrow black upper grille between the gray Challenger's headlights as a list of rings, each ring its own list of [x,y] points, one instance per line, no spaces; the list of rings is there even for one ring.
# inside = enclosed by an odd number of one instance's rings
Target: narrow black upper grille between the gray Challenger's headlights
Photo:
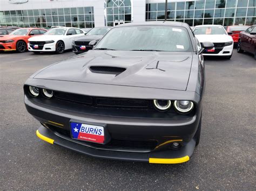
[[[116,108],[152,108],[150,100],[137,100],[125,98],[92,97],[55,91],[55,97],[71,102],[91,105],[93,107],[116,107]]]

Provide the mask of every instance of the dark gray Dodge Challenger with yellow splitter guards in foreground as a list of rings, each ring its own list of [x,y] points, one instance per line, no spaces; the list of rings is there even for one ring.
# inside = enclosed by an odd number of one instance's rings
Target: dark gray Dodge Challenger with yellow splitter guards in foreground
[[[113,27],[86,53],[53,63],[24,84],[36,135],[92,157],[177,164],[201,130],[205,68],[185,23]]]

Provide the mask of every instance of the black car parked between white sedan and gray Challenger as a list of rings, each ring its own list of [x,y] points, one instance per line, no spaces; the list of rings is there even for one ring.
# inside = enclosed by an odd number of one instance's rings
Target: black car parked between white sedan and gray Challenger
[[[111,27],[93,28],[84,37],[79,37],[72,41],[72,51],[75,54],[89,51],[89,49],[93,48],[93,46],[89,45],[90,41],[96,40],[98,42],[110,29]]]

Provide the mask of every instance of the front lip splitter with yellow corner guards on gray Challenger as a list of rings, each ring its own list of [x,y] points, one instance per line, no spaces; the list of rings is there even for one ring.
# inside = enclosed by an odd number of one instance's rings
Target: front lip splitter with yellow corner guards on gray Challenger
[[[180,150],[172,151],[159,151],[150,153],[139,153],[139,152],[119,152],[109,150],[98,150],[95,148],[87,147],[82,144],[77,144],[70,140],[57,136],[51,130],[40,126],[36,132],[37,136],[50,144],[56,144],[69,148],[73,151],[90,155],[91,157],[104,158],[104,159],[115,159],[115,160],[127,160],[127,161],[138,161],[138,162],[150,162],[157,164],[178,164],[190,160],[193,154],[196,141],[191,139],[186,146],[180,148]]]

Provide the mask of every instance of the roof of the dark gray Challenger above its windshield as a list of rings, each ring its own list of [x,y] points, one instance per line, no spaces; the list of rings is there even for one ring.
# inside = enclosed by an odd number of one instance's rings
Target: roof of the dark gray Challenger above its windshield
[[[173,22],[173,21],[148,21],[148,22],[142,22],[142,23],[125,23],[121,25],[114,26],[116,27],[123,27],[123,26],[177,26],[177,27],[186,27],[187,29],[190,29],[190,26],[187,23],[183,22]]]

